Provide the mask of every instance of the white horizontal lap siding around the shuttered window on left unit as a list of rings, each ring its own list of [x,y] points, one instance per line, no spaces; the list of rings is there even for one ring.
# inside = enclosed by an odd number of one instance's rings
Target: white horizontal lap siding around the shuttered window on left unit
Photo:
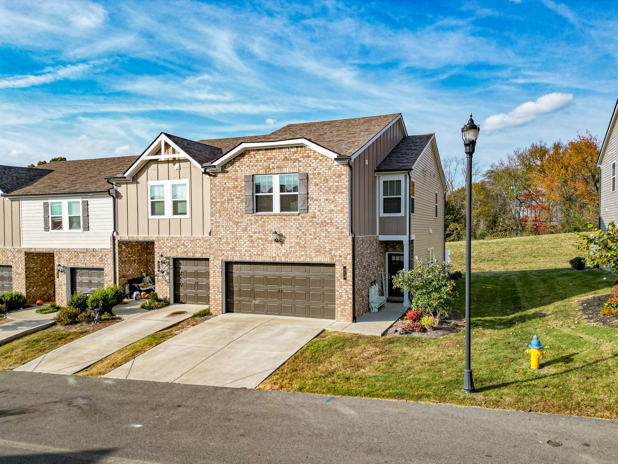
[[[74,198],[74,197],[71,197]],[[88,200],[86,231],[45,231],[43,202],[63,197],[37,197],[20,200],[22,215],[22,246],[28,248],[109,248],[114,231],[114,204],[109,195],[76,195]]]

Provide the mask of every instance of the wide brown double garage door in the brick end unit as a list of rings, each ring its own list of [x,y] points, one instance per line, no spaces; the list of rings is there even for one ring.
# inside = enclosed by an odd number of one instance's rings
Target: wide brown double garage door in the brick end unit
[[[226,311],[335,319],[335,265],[227,262]]]

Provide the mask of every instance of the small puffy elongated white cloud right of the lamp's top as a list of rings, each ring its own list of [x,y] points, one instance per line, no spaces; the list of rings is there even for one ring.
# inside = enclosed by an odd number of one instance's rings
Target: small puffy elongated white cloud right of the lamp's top
[[[552,111],[569,105],[572,100],[572,93],[548,93],[548,95],[537,98],[536,101],[522,103],[508,114],[501,113],[489,116],[483,122],[483,129],[486,131],[497,131],[498,129],[504,129],[504,127],[521,126],[526,122],[532,121],[540,114],[552,113]]]

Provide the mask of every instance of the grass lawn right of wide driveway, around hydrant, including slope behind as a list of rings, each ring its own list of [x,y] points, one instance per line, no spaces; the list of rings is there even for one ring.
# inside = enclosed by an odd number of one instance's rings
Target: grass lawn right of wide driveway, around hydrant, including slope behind
[[[563,272],[577,254],[572,242],[560,234],[473,243],[476,269],[485,271],[472,275],[473,395],[462,391],[463,332],[426,339],[324,332],[259,388],[616,419],[618,330],[578,320],[574,306],[583,295],[609,293],[615,277]],[[462,267],[462,254],[453,259]],[[464,285],[457,282],[460,311]],[[535,333],[548,351],[539,371],[523,352]]]

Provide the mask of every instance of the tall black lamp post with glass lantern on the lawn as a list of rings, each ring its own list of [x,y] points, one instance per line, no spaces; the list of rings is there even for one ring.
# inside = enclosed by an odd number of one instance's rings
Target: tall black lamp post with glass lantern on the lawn
[[[472,153],[478,139],[478,131],[481,127],[477,126],[472,119],[462,127],[462,139],[464,139],[465,156],[467,168],[465,173],[465,370],[464,370],[464,392],[474,393],[474,382],[472,380],[472,366],[470,365],[470,335],[472,325],[470,325],[470,240],[472,239]]]

